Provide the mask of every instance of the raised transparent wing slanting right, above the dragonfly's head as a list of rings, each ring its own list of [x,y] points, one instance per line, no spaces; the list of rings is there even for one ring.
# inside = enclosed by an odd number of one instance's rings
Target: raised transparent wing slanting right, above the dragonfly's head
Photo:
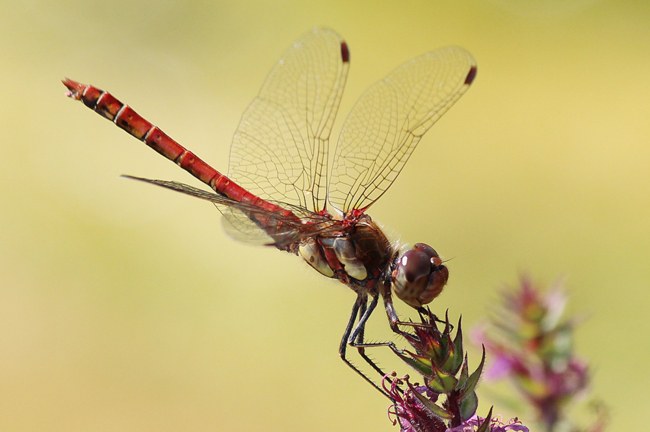
[[[370,87],[343,125],[329,183],[332,205],[347,212],[375,202],[475,75],[471,54],[447,47],[404,63]]]

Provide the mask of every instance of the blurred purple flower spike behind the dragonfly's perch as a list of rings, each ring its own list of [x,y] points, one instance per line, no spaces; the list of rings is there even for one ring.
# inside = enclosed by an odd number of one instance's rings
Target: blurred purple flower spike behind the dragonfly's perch
[[[548,431],[589,384],[587,363],[573,353],[577,320],[562,319],[565,305],[559,285],[543,292],[522,278],[518,290],[501,294],[491,323],[472,335],[492,357],[486,380],[509,379]]]

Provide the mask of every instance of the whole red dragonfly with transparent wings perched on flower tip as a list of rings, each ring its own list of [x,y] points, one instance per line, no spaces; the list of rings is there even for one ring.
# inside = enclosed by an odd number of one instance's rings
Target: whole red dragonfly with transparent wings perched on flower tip
[[[361,96],[330,160],[328,142],[349,61],[347,44],[332,30],[316,28],[296,41],[244,113],[231,146],[228,176],[111,94],[70,79],[63,83],[67,96],[81,100],[216,193],[130,178],[210,201],[223,213],[231,236],[299,255],[319,273],[350,287],[357,299],[339,353],[386,395],[348,360],[347,346],[357,348],[383,375],[364,351],[390,345],[364,342],[366,321],[379,298],[391,328],[399,333],[399,325],[409,323],[399,321],[392,291],[420,309],[440,294],[449,271],[426,244],[401,253],[366,210],[395,181],[422,135],[467,91],[476,64],[458,47],[406,62]]]

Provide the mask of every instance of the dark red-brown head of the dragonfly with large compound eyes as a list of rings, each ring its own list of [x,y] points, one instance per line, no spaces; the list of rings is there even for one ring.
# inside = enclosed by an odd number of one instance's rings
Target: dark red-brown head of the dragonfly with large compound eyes
[[[449,270],[438,253],[424,243],[416,243],[405,252],[392,273],[395,295],[416,309],[438,297],[447,279]]]

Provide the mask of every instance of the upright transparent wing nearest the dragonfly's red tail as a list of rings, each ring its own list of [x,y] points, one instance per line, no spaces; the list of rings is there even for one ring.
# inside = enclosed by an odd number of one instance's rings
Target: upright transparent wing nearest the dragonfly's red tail
[[[324,209],[328,140],[348,60],[332,30],[316,28],[296,41],[244,113],[228,176],[264,199]]]

